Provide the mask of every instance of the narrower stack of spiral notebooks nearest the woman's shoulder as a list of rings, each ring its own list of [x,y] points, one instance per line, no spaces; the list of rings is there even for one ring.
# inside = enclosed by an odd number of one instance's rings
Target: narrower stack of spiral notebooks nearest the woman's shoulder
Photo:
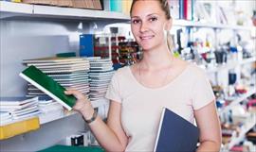
[[[99,57],[88,58],[90,60],[90,93],[91,101],[104,98],[110,80],[114,74],[111,59],[101,59]]]

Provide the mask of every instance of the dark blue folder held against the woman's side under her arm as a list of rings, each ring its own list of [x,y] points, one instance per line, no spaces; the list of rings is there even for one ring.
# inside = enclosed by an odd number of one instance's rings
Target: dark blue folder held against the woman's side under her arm
[[[199,129],[166,108],[162,111],[154,151],[194,152]]]

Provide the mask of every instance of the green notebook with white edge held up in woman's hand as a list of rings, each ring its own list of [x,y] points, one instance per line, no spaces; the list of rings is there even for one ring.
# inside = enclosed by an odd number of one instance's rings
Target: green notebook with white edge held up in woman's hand
[[[20,73],[24,79],[34,85],[36,88],[46,93],[57,102],[61,103],[67,110],[72,110],[76,103],[76,97],[73,95],[66,95],[65,89],[58,82],[50,76],[44,74],[41,70],[31,65]]]

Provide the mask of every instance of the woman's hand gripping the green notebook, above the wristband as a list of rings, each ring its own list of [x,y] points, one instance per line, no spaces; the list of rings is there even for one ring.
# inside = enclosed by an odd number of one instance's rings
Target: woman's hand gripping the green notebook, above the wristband
[[[74,95],[77,98],[76,104],[73,110],[77,110],[82,113],[83,117],[87,120],[90,119],[94,113],[94,109],[89,99],[77,90],[66,90],[64,92],[67,95]]]

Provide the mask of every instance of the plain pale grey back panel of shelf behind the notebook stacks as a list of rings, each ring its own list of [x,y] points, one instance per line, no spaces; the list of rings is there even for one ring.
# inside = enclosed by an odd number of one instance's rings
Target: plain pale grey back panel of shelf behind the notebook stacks
[[[0,95],[21,96],[27,93],[27,83],[18,76],[25,69],[23,59],[71,51],[78,53],[79,35],[90,30],[89,24],[82,24],[82,29],[79,29],[79,24],[74,21],[1,20]]]

